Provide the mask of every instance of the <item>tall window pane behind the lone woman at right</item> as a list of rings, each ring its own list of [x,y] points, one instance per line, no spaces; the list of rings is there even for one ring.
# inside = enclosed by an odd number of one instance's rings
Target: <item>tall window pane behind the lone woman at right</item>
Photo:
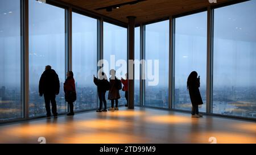
[[[206,110],[207,11],[175,19],[174,108],[191,110],[187,79],[192,71],[200,76],[200,93]]]

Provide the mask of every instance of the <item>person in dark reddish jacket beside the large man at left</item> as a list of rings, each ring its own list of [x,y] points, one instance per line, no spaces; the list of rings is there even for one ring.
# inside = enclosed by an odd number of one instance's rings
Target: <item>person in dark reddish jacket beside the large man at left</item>
[[[65,93],[65,100],[68,102],[70,112],[67,114],[68,116],[75,115],[74,113],[74,104],[76,100],[76,85],[74,74],[72,71],[67,73],[67,79],[64,82],[64,93]]]

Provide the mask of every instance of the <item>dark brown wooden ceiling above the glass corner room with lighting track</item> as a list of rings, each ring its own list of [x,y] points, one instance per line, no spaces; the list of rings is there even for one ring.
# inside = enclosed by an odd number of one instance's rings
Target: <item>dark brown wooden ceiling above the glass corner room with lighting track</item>
[[[136,24],[146,23],[152,20],[166,18],[184,12],[203,9],[209,5],[216,5],[230,0],[217,0],[217,3],[209,3],[208,0],[147,0],[134,5],[125,5],[113,11],[96,10],[101,7],[118,5],[120,3],[133,2],[134,0],[60,0],[73,6],[80,7],[98,14],[117,19],[127,23],[127,16],[136,16]]]

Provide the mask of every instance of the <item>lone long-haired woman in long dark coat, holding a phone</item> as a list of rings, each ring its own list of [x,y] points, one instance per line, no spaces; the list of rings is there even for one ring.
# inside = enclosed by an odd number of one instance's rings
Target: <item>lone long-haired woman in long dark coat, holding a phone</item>
[[[203,115],[199,114],[199,105],[203,104],[203,100],[199,91],[200,76],[197,78],[195,71],[191,72],[188,76],[187,89],[192,103],[192,118],[200,118]]]

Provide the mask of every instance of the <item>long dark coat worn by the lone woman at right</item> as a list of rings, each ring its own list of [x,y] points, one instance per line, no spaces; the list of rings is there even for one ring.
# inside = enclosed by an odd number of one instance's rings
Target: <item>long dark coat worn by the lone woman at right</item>
[[[191,82],[191,84],[188,86],[189,96],[190,96],[191,103],[193,106],[203,104],[203,100],[200,95],[199,87],[200,87],[199,79],[197,79],[195,82]]]

